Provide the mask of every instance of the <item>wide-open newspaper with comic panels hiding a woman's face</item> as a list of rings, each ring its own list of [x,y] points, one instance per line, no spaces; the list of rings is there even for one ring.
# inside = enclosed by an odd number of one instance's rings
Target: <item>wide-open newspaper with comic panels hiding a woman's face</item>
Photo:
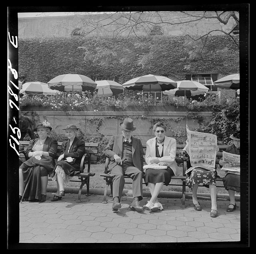
[[[195,167],[215,171],[215,158],[217,150],[217,136],[204,132],[194,132],[188,129],[187,138],[189,141],[189,156],[191,167],[186,170],[186,173]]]

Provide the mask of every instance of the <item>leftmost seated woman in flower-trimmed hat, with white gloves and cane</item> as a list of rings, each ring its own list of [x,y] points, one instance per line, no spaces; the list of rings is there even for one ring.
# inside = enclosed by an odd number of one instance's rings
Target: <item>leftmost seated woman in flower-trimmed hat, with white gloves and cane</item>
[[[58,142],[48,137],[52,127],[49,122],[38,124],[34,129],[39,138],[30,140],[26,150],[26,158],[19,168],[20,201],[44,202],[48,175],[55,166],[54,158],[57,153]]]

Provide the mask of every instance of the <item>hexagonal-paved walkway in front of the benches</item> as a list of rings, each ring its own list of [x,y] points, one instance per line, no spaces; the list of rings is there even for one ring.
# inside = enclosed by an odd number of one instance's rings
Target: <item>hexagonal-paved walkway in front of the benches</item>
[[[227,213],[229,201],[218,200],[218,217],[210,217],[210,200],[200,200],[202,211],[195,211],[192,200],[161,198],[164,210],[131,211],[132,197],[123,197],[122,208],[112,211],[112,202],[103,204],[102,195],[66,194],[62,201],[51,202],[47,193],[44,203],[20,204],[20,242],[220,242],[240,241],[240,202]],[[149,199],[140,201],[145,205]]]

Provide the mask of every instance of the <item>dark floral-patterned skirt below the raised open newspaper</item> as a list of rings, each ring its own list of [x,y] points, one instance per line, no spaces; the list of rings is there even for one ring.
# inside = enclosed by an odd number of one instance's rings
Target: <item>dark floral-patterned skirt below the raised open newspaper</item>
[[[216,171],[211,171],[207,169],[203,169],[201,167],[196,167],[188,174],[186,178],[186,184],[190,189],[192,189],[193,185],[198,183],[200,186],[204,186],[209,188],[209,184],[216,185]]]

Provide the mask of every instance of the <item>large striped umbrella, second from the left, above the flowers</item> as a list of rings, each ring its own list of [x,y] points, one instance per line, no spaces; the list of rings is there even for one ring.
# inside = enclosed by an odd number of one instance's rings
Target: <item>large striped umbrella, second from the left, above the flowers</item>
[[[84,75],[63,74],[47,82],[50,89],[59,91],[94,91],[97,84]]]

